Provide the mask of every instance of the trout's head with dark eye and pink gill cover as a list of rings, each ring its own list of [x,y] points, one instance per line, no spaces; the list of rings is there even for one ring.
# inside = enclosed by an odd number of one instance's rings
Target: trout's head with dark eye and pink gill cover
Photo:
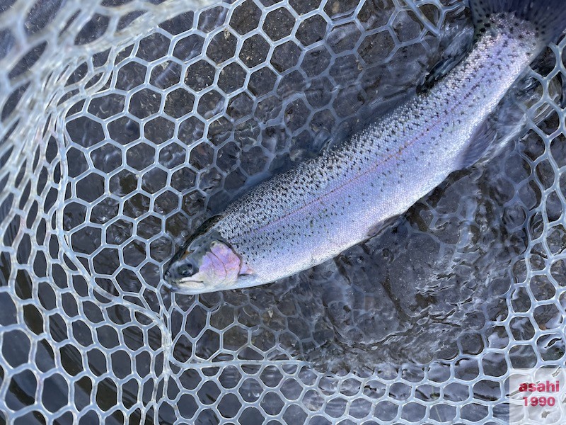
[[[226,241],[204,234],[173,256],[165,278],[171,290],[194,295],[248,286],[243,280],[251,274]]]

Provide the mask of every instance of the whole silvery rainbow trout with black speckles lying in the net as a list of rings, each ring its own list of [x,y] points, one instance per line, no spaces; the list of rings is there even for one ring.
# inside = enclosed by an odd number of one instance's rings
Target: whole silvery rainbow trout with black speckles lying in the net
[[[470,0],[475,44],[432,89],[339,147],[274,176],[204,222],[173,257],[172,289],[270,283],[362,242],[490,145],[486,119],[566,28],[566,0]]]

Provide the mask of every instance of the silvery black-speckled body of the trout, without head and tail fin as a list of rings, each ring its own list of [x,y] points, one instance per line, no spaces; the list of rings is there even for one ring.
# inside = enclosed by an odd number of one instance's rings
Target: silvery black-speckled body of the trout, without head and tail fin
[[[496,16],[473,51],[343,145],[261,183],[216,225],[267,283],[367,239],[466,163],[474,133],[538,51],[535,29]]]

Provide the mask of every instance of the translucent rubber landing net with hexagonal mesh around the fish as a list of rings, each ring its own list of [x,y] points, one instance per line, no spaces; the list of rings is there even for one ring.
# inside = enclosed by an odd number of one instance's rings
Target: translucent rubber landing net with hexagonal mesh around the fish
[[[0,416],[504,423],[508,368],[565,361],[565,38],[531,72],[548,118],[369,242],[248,290],[161,280],[470,28],[458,0],[0,4]]]

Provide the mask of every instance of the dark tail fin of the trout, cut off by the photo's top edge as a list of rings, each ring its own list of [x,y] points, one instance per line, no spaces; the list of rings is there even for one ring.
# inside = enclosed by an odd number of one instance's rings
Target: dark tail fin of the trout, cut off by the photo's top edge
[[[494,13],[510,13],[532,23],[543,45],[566,30],[566,0],[470,0],[470,8],[478,27]]]

